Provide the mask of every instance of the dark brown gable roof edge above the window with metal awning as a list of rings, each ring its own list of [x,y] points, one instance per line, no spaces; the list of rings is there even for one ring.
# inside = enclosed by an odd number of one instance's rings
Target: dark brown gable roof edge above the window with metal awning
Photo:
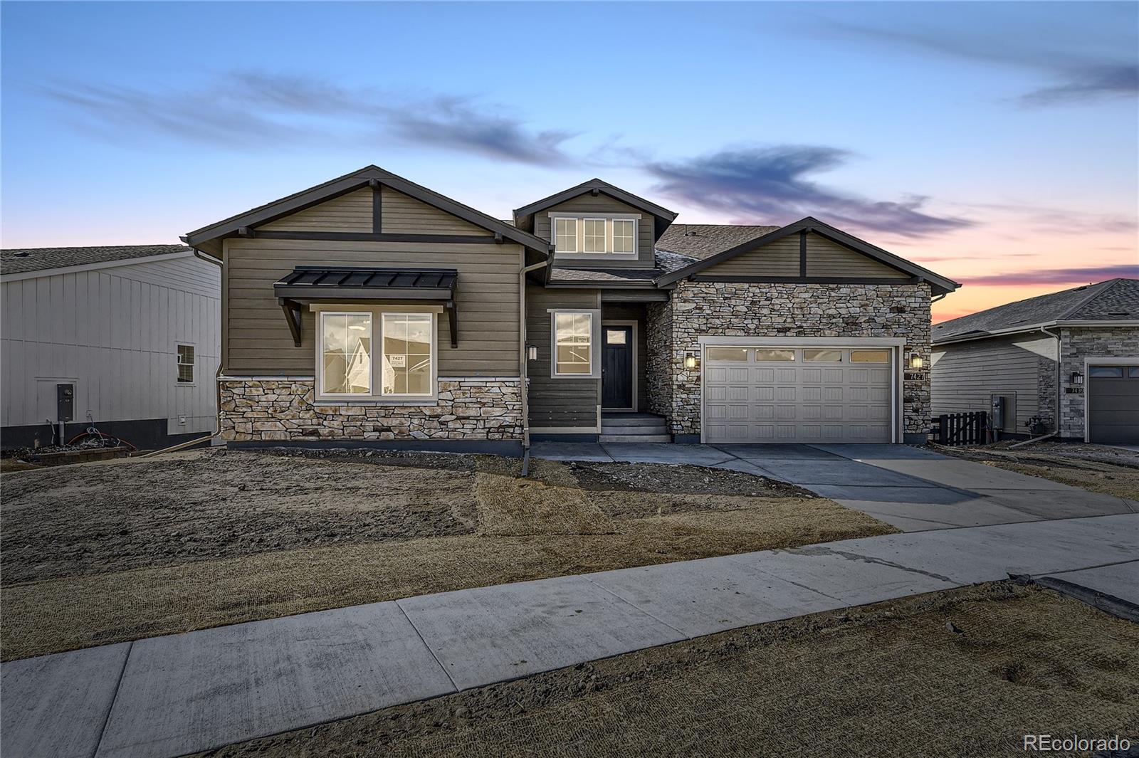
[[[362,187],[367,187],[372,181],[377,181],[384,187],[390,187],[398,192],[402,192],[417,200],[432,205],[440,211],[458,216],[464,221],[475,224],[476,226],[482,226],[483,229],[490,230],[495,234],[501,234],[505,239],[524,245],[530,249],[538,250],[542,255],[548,256],[552,249],[550,242],[534,237],[530,232],[525,232],[511,224],[503,223],[502,221],[499,221],[482,211],[476,211],[468,205],[464,205],[458,200],[452,200],[451,198],[440,195],[434,190],[416,184],[412,181],[398,176],[390,171],[384,171],[379,166],[375,165],[364,166],[359,171],[353,171],[350,174],[337,176],[336,179],[323,182],[322,184],[310,187],[309,189],[301,190],[300,192],[294,192],[288,197],[282,197],[278,200],[273,200],[272,203],[267,203],[251,211],[246,211],[245,213],[239,213],[235,216],[230,216],[229,219],[203,226],[202,229],[196,229],[188,232],[182,240],[191,247],[197,247],[216,255],[221,252],[220,240],[222,238],[237,234],[238,230],[243,226],[256,226],[257,224],[281,219],[296,213],[297,211],[310,208],[314,205],[319,205],[320,203],[325,203],[326,200],[331,200],[333,198],[346,195],[347,192],[352,192]]]

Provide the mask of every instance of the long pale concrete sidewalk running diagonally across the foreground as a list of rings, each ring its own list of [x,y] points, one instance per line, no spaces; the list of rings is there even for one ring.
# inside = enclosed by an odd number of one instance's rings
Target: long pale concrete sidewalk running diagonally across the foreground
[[[0,667],[0,750],[178,756],[1009,574],[1077,580],[1084,571],[1139,602],[1137,559],[1136,514],[943,529],[464,590],[30,658]]]

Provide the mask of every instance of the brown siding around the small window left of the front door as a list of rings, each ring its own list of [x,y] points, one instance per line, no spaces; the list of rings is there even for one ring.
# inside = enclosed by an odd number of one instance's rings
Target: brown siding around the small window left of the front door
[[[530,361],[531,427],[596,427],[599,379],[550,378],[550,314],[547,308],[597,308],[593,289],[526,287],[526,341],[538,346]]]

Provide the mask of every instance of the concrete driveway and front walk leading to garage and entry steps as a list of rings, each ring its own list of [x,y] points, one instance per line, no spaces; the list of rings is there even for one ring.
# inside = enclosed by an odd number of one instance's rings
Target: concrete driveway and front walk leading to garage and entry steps
[[[558,461],[687,463],[810,489],[903,532],[1139,512],[1139,502],[908,445],[535,443]]]

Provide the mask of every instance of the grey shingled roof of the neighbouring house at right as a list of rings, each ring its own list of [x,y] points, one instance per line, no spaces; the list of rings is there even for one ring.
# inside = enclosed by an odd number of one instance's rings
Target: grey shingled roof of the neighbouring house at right
[[[1066,321],[1139,321],[1139,279],[1108,279],[934,324],[933,343],[1031,331]]]

